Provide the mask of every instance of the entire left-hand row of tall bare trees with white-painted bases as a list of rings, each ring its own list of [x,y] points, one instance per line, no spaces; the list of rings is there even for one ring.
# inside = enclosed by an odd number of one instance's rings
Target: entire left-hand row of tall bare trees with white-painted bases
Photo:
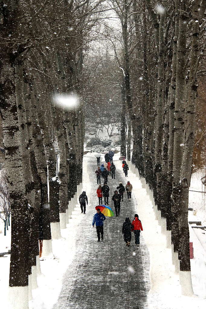
[[[1,146],[12,218],[14,308],[28,308],[28,278],[39,258],[39,240],[43,254],[52,253],[51,239],[66,228],[68,207],[82,182],[85,125],[79,76],[91,29],[98,32],[102,2],[0,4]]]

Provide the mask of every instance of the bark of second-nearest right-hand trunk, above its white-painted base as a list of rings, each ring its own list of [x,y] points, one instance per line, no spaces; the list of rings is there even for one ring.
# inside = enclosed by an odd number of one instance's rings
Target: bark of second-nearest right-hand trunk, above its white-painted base
[[[172,191],[172,215],[173,215],[173,244],[174,251],[178,251],[179,232],[179,189],[180,171],[183,155],[183,130],[184,130],[184,91],[186,76],[186,42],[187,42],[187,18],[185,12],[186,3],[182,1],[176,3],[179,13],[179,34],[177,43],[177,68],[176,68],[176,89],[175,89],[175,108],[174,108],[174,151],[173,151],[173,191]]]

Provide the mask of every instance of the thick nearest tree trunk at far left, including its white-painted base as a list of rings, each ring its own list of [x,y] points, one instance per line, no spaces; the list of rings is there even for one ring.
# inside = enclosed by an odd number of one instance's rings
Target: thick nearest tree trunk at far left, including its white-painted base
[[[21,154],[21,136],[15,99],[14,68],[11,50],[1,46],[1,115],[6,159],[6,172],[11,203],[10,301],[28,308],[29,219]],[[18,306],[17,306],[18,307]],[[20,308],[20,306],[18,307]]]

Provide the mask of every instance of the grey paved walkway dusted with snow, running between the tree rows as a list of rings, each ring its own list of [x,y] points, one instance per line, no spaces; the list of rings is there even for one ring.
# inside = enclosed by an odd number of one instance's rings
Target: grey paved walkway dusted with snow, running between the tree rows
[[[76,254],[73,263],[63,278],[62,291],[55,309],[148,309],[147,291],[149,289],[148,251],[140,236],[140,247],[134,244],[127,248],[122,237],[122,223],[126,217],[133,219],[135,198],[131,202],[125,196],[121,203],[119,217],[106,218],[104,241],[97,242],[96,228],[92,229],[92,218],[98,205],[96,195],[97,181],[94,173],[96,159],[85,157],[87,171],[93,186],[87,192],[89,205],[81,221],[75,243]],[[114,161],[115,164],[115,161]],[[122,170],[116,170],[116,179],[109,176],[109,205],[114,209],[111,197],[119,182],[125,185],[127,179]],[[84,189],[84,184],[83,184]],[[143,226],[144,229],[144,226]],[[132,233],[133,234],[133,233]]]

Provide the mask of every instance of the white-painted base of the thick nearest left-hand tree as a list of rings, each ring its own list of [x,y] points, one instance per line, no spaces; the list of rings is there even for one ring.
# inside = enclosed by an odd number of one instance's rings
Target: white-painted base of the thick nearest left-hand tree
[[[11,309],[29,309],[28,286],[9,286]]]

